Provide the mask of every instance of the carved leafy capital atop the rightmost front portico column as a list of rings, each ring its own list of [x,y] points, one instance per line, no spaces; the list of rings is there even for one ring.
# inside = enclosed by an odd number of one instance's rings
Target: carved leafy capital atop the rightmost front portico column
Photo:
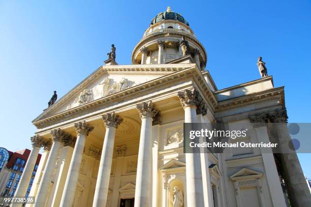
[[[177,96],[179,97],[181,106],[183,108],[188,106],[196,106],[197,114],[202,114],[203,116],[207,114],[208,108],[206,103],[196,88],[180,91],[178,92]]]

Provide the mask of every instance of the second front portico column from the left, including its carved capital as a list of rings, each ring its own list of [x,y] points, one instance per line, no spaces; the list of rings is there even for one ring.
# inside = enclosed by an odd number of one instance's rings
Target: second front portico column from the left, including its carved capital
[[[65,133],[64,131],[58,128],[58,129],[52,130],[51,135],[52,135],[53,144],[52,144],[52,148],[51,148],[49,157],[47,159],[47,162],[46,162],[46,165],[43,171],[42,179],[41,179],[38,192],[36,195],[36,200],[34,204],[34,206],[36,207],[38,206],[41,207],[45,205],[45,202],[48,197],[50,183],[51,183],[52,176],[53,176],[53,169],[57,161],[58,151],[61,147],[64,147],[63,140],[64,140],[64,137],[67,136],[67,133]]]

